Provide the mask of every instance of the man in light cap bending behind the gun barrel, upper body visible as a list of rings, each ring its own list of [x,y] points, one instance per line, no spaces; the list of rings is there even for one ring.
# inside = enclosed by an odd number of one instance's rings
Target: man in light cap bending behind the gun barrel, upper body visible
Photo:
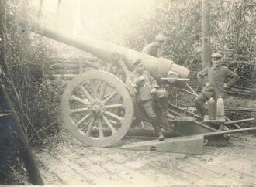
[[[157,35],[154,42],[151,42],[150,44],[145,46],[144,49],[142,49],[142,53],[146,53],[150,56],[157,57],[158,49],[161,48],[161,46],[164,43],[164,40],[164,36]]]

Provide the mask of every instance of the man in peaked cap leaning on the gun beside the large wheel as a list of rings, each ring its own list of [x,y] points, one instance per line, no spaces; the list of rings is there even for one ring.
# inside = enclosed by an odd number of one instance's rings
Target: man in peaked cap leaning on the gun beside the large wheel
[[[144,70],[142,59],[137,59],[132,64],[133,72],[128,74],[127,82],[134,85],[137,90],[137,102],[144,108],[152,126],[157,132],[158,140],[163,141],[164,135],[161,131],[160,124],[157,124],[157,115],[153,108],[154,100],[159,100],[162,106],[164,117],[174,118],[168,113],[168,94],[165,90],[161,90],[157,84],[157,81],[150,75],[150,73]],[[153,96],[153,97],[152,97]]]

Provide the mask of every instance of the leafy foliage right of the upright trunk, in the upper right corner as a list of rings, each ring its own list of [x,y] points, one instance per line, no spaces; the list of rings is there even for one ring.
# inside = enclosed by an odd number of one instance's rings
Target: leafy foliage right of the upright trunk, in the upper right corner
[[[256,1],[212,3],[213,52],[223,53],[227,66],[240,76],[255,78]]]

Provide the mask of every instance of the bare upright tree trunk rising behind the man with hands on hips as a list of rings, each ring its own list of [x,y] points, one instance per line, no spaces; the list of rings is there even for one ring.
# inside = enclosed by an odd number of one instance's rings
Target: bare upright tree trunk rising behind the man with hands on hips
[[[202,68],[211,64],[209,38],[209,0],[202,0]]]

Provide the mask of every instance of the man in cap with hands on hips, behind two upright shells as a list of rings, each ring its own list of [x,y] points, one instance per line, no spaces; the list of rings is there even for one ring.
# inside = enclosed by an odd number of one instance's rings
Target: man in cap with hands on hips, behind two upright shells
[[[208,82],[206,86],[202,88],[202,93],[195,97],[194,103],[197,110],[199,110],[202,116],[206,115],[206,109],[203,104],[213,97],[217,100],[218,97],[223,99],[226,97],[225,88],[229,88],[239,80],[239,76],[233,71],[227,69],[227,67],[221,66],[222,56],[220,53],[213,53],[213,66],[208,66],[206,69],[200,71],[197,74],[199,83],[202,83],[204,76],[208,76]],[[227,83],[225,81],[230,79]]]

